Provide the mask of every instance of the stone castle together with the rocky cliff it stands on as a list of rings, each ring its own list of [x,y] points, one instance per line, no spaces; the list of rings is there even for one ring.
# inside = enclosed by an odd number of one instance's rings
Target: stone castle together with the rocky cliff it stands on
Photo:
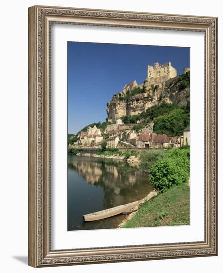
[[[184,73],[189,71],[190,68],[184,68]],[[181,90],[177,84],[178,77],[177,70],[171,62],[148,65],[147,78],[142,84],[138,84],[136,80],[125,84],[122,91],[113,95],[112,100],[107,103],[108,121],[115,122],[122,116],[138,115],[161,101],[185,106],[189,88]],[[142,92],[134,92],[138,88]]]

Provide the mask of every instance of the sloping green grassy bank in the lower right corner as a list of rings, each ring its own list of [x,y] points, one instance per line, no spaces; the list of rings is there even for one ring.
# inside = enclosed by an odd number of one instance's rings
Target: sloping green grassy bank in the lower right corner
[[[188,183],[182,183],[145,202],[122,228],[188,224],[190,224],[190,187]]]

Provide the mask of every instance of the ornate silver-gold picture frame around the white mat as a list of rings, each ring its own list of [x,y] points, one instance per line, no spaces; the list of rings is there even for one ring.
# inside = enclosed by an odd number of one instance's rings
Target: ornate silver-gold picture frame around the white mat
[[[204,241],[53,250],[51,247],[51,25],[203,32]],[[203,178],[201,178],[203,179]],[[217,255],[217,18],[33,6],[29,8],[29,258],[33,267]]]

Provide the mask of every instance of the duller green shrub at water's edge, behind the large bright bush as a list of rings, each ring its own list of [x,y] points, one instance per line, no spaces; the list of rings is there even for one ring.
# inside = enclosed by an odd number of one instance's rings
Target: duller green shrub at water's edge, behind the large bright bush
[[[156,162],[158,159],[162,159],[165,157],[165,151],[143,151],[140,153],[140,169],[149,173],[152,164]]]

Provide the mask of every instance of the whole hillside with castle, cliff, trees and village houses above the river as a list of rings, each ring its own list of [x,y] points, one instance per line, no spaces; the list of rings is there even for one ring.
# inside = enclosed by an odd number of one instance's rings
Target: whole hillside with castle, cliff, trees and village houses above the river
[[[190,145],[189,68],[177,76],[171,62],[148,65],[142,84],[133,80],[107,103],[106,122],[83,128],[72,148],[166,149]],[[174,135],[175,134],[175,135]]]

